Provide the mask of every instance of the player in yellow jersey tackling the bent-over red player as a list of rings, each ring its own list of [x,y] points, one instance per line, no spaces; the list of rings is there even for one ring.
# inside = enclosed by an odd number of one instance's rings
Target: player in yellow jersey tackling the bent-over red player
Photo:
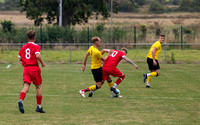
[[[87,58],[88,58],[88,56],[91,56],[91,59],[92,59],[91,71],[92,71],[94,80],[96,81],[96,85],[93,85],[93,86],[90,86],[89,88],[80,90],[79,93],[81,94],[82,97],[85,97],[85,93],[86,92],[89,92],[89,91],[93,91],[94,92],[95,90],[101,88],[101,86],[102,86],[102,68],[101,68],[101,63],[102,63],[102,61],[105,61],[108,58],[108,56],[113,52],[113,50],[104,49],[102,51],[102,53],[101,53],[98,50],[98,48],[100,46],[100,38],[99,37],[93,37],[92,38],[92,42],[93,42],[93,45],[88,49],[88,51],[87,51],[87,53],[85,55],[84,64],[83,64],[83,67],[81,68],[81,70],[82,71],[85,70]],[[106,57],[102,56],[102,54],[104,52],[108,53]],[[109,86],[112,87],[112,85],[113,85],[112,81],[111,80],[107,80],[107,81],[108,81],[108,84],[111,84]],[[91,92],[89,94],[89,97],[92,97],[93,92]]]

